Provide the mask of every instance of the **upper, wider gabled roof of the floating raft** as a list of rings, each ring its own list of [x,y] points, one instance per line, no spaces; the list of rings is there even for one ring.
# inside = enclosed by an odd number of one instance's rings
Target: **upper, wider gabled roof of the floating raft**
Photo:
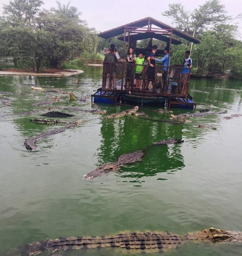
[[[142,28],[142,27],[148,26],[148,24],[153,24],[153,25],[155,25],[159,28],[163,28],[164,30],[171,30],[172,33],[175,34],[176,36],[184,38],[185,40],[188,40],[192,43],[198,44],[198,43],[201,42],[199,39],[197,39],[195,37],[192,37],[192,36],[182,32],[180,30],[177,30],[176,28],[170,27],[170,26],[166,25],[165,23],[162,23],[162,22],[157,21],[156,19],[153,19],[153,18],[150,18],[150,17],[140,19],[138,21],[134,21],[134,22],[125,24],[121,27],[113,28],[112,30],[102,32],[98,36],[102,37],[104,39],[108,39],[108,38],[119,36],[119,35],[123,34],[124,29],[127,28],[127,27],[129,27],[129,28],[132,28],[132,27]]]

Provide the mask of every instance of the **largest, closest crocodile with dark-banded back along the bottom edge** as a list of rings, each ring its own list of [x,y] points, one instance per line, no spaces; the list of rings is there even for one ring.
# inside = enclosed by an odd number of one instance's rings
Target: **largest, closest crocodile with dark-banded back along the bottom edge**
[[[242,232],[223,229],[204,229],[186,235],[165,232],[130,232],[100,237],[60,237],[55,240],[26,244],[20,249],[22,256],[35,256],[42,252],[78,250],[82,248],[120,247],[133,250],[166,250],[181,246],[187,241],[228,243],[242,242]]]

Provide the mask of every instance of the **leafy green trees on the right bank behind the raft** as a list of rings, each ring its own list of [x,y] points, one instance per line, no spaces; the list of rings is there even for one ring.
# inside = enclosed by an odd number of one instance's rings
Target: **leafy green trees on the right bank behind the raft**
[[[201,39],[193,45],[191,58],[192,72],[198,76],[229,73],[232,78],[242,78],[242,42],[236,40],[238,26],[232,24],[235,19],[227,16],[220,0],[208,0],[192,12],[185,10],[182,4],[169,4],[169,10],[163,14],[172,18],[179,30]],[[172,46],[171,64],[182,64],[185,50],[190,44]]]

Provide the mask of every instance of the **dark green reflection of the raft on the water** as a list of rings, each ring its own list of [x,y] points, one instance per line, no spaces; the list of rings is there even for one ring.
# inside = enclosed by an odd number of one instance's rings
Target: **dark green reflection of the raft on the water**
[[[124,109],[118,109],[122,110]],[[152,146],[152,143],[168,138],[182,139],[182,128],[182,125],[155,122],[136,116],[102,120],[99,162],[114,162],[122,154],[144,149],[145,156],[141,162],[121,167],[121,177],[137,178],[139,181],[142,177],[180,170],[185,166],[181,145]]]

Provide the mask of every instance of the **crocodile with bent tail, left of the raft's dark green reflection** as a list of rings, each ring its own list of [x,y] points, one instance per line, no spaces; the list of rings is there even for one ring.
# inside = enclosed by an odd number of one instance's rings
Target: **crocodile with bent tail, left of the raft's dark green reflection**
[[[51,130],[51,131],[47,131],[47,132],[41,133],[41,134],[39,134],[37,136],[30,137],[30,138],[25,140],[24,145],[25,145],[27,150],[35,151],[37,149],[37,146],[35,145],[35,142],[38,141],[39,139],[45,138],[45,137],[48,137],[48,136],[51,136],[51,135],[55,135],[57,133],[64,132],[68,128],[74,128],[74,127],[78,126],[80,123],[82,123],[82,120],[78,120],[78,121],[74,121],[74,122],[71,122],[71,123],[67,123],[62,128],[54,129],[54,130]]]

